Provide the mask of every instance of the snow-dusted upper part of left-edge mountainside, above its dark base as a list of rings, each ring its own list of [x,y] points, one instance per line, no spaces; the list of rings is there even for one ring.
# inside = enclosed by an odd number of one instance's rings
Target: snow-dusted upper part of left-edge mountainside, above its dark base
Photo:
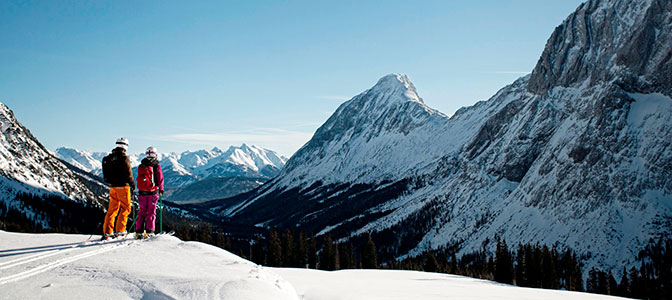
[[[91,192],[82,179],[71,171],[0,103],[0,200],[14,203],[17,192],[53,194],[82,202],[99,204],[99,195]]]

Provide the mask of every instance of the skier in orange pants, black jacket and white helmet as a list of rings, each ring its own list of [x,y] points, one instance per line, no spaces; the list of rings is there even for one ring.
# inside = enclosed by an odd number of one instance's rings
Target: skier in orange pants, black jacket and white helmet
[[[103,238],[126,234],[126,220],[131,212],[131,193],[135,190],[131,162],[126,155],[128,140],[120,138],[110,155],[103,158],[103,178],[110,184],[110,205],[103,223]],[[114,218],[117,223],[114,224]],[[113,233],[114,230],[114,233]]]

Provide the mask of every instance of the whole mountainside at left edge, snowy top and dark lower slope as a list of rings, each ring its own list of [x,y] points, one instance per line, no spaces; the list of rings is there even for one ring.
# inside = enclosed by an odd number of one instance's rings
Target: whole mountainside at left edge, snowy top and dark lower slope
[[[46,229],[69,220],[72,212],[54,207],[62,204],[54,201],[74,201],[78,207],[92,211],[99,207],[102,211],[104,197],[92,191],[99,183],[71,170],[44,148],[2,103],[0,130],[0,204],[6,207],[0,217],[6,225],[41,224]],[[42,197],[49,203],[36,203],[35,198],[26,201],[25,195]],[[17,213],[7,215],[10,211]]]

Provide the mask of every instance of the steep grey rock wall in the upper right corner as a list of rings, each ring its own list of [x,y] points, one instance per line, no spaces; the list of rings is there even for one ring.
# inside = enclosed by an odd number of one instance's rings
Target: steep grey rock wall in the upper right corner
[[[633,92],[672,92],[672,2],[590,0],[556,27],[529,90],[615,81]],[[655,88],[654,88],[655,87]]]

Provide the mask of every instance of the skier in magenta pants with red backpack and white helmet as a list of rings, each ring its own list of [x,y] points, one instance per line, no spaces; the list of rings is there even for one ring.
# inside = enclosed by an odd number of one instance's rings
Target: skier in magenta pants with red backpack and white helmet
[[[145,238],[154,234],[156,203],[159,201],[159,196],[163,196],[163,171],[157,160],[156,148],[147,148],[145,155],[146,157],[138,166],[136,180],[139,190],[138,202],[140,202],[138,220],[135,223],[136,238]]]

